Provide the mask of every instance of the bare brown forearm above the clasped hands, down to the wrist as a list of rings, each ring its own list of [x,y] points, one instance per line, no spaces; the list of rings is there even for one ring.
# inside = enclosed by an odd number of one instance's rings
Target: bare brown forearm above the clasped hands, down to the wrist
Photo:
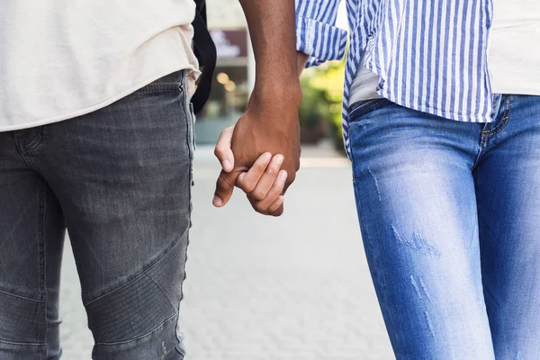
[[[239,0],[256,60],[257,93],[300,95],[293,0]],[[286,91],[285,90],[286,86]]]

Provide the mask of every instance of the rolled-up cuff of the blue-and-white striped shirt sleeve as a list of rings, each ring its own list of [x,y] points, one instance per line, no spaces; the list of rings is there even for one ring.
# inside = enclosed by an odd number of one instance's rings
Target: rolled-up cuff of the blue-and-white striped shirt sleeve
[[[306,67],[339,60],[345,55],[347,31],[337,26],[296,16],[296,49],[310,55]]]

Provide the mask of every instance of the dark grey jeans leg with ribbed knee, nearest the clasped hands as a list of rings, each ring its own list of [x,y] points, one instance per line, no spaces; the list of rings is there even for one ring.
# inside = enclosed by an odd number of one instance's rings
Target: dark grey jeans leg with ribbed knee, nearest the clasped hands
[[[43,133],[42,164],[66,212],[95,359],[180,349],[193,158],[181,74]]]

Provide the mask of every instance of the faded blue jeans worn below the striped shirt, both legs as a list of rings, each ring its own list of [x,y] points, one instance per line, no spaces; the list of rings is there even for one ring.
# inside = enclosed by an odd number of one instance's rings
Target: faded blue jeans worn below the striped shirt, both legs
[[[398,360],[540,359],[540,97],[496,121],[352,107],[365,253]]]

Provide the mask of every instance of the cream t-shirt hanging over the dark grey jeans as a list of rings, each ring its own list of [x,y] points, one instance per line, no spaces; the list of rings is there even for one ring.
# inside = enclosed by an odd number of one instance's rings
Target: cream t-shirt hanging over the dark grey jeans
[[[180,69],[193,0],[0,1],[0,131],[93,112]]]

